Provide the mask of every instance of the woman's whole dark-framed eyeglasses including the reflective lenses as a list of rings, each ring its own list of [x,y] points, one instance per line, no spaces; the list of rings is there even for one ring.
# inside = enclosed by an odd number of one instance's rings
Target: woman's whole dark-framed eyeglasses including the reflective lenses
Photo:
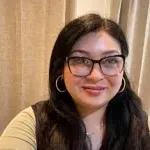
[[[90,75],[94,64],[98,63],[104,75],[114,76],[118,75],[124,69],[125,56],[113,55],[104,57],[100,60],[92,60],[86,57],[70,56],[66,58],[70,72],[74,76],[86,77]]]

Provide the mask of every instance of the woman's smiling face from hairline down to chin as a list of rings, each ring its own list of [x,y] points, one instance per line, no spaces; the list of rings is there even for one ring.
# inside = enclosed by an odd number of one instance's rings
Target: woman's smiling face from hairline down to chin
[[[73,46],[71,57],[86,57],[93,60],[100,60],[107,56],[121,54],[120,44],[105,31],[91,32],[81,37]],[[69,56],[69,57],[70,57]],[[85,61],[85,60],[84,60]],[[86,69],[76,69],[76,64],[81,64],[83,60],[74,60],[70,63],[75,73],[84,74]],[[89,62],[84,62],[89,65]],[[101,62],[109,69],[109,64],[114,60]],[[105,64],[106,63],[106,64]],[[89,66],[87,66],[88,68]],[[104,68],[105,70],[105,68]],[[106,71],[107,72],[107,71]],[[109,72],[109,71],[108,71]],[[110,71],[111,72],[111,71]],[[64,66],[64,81],[67,91],[71,95],[77,108],[99,109],[106,107],[109,101],[118,93],[123,77],[123,71],[114,76],[104,75],[98,63],[93,66],[92,72],[88,76],[73,75],[66,63]]]

